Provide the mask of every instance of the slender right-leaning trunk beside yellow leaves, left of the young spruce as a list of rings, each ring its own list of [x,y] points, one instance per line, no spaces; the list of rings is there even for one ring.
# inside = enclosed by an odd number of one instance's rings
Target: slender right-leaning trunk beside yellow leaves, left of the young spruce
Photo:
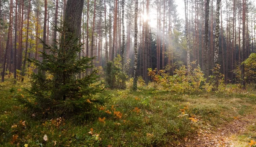
[[[28,52],[28,40],[29,40],[29,14],[30,14],[30,0],[29,0],[29,8],[27,12],[27,26],[26,26],[26,46],[25,46],[25,57],[23,61],[23,66],[22,66],[22,72],[21,72],[21,82],[24,81],[24,76],[25,76],[25,68],[26,68],[26,58],[27,58],[27,52]]]

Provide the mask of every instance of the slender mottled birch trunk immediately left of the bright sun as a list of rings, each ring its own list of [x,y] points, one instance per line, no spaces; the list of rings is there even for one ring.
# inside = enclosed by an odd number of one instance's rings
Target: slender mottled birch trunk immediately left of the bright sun
[[[137,34],[138,34],[138,0],[135,0],[135,14],[134,14],[134,81],[133,90],[137,90],[137,66],[138,66],[138,49],[137,49]]]

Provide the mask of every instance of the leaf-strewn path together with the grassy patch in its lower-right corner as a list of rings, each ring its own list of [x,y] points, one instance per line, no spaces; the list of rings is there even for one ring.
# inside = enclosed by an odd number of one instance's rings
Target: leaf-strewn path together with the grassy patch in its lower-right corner
[[[221,124],[211,129],[198,130],[191,139],[180,145],[181,147],[248,147],[255,144],[256,113],[239,116],[231,122]],[[248,140],[252,142],[248,143]]]

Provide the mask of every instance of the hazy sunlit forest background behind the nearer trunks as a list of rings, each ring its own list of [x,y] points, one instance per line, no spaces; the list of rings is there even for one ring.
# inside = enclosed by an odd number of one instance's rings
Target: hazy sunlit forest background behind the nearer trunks
[[[205,11],[209,2],[209,29],[205,31]],[[184,14],[180,14],[175,0],[139,0],[138,6],[138,76],[149,80],[148,68],[165,69],[171,75],[181,65],[192,62],[192,68],[200,65],[208,68],[205,75],[212,75],[215,51],[216,2],[214,0],[185,0],[188,18],[186,40]],[[122,2],[124,11],[122,11]],[[0,63],[2,82],[4,75],[18,72],[23,79],[38,72],[26,58],[42,60],[44,27],[45,42],[52,44],[60,34],[53,26],[60,26],[64,19],[67,0],[0,0]],[[244,12],[242,4],[244,4]],[[244,15],[244,25],[242,23]],[[122,24],[122,17],[124,19]],[[256,8],[253,0],[226,0],[221,2],[218,64],[226,82],[237,82],[236,69],[241,62],[255,52]],[[244,45],[242,50],[242,28]],[[123,30],[124,29],[124,30]],[[207,54],[204,36],[208,33]],[[78,57],[96,57],[95,68],[100,71],[108,60],[122,56],[128,75],[133,75],[134,65],[134,1],[132,0],[87,0],[84,1],[81,18],[83,50]],[[188,43],[188,46],[186,45]],[[187,52],[189,50],[189,52]],[[187,53],[190,59],[187,58]],[[245,58],[242,59],[242,53]],[[203,59],[207,59],[204,65]],[[17,64],[16,64],[17,63]],[[5,73],[5,74],[3,74]],[[16,74],[16,73],[15,73]],[[14,75],[15,75],[14,74]],[[83,75],[83,74],[82,74]]]

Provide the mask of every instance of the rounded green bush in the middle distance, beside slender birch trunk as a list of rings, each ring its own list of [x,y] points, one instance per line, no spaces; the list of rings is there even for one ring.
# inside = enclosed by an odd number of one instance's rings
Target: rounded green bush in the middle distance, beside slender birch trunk
[[[105,67],[105,82],[109,88],[125,89],[125,80],[127,76],[122,71],[121,57],[118,55],[114,59],[114,63],[109,61]]]

